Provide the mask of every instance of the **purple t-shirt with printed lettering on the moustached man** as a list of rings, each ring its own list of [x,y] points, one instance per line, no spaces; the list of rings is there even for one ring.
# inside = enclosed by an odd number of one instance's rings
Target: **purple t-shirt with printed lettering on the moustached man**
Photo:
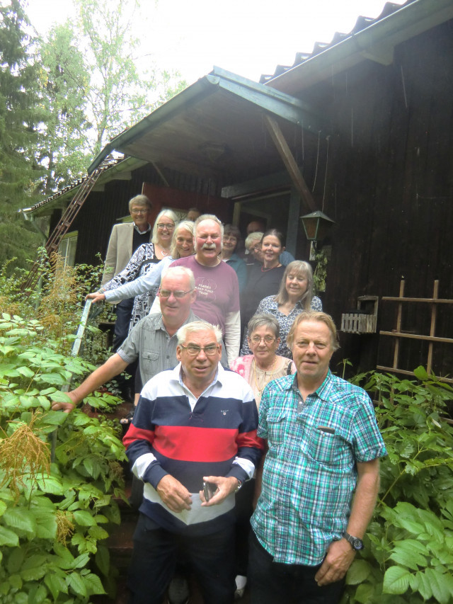
[[[195,256],[179,258],[171,266],[185,266],[193,271],[197,289],[193,313],[212,325],[218,325],[224,334],[226,315],[239,311],[239,283],[234,268],[225,262],[204,266],[195,260]]]

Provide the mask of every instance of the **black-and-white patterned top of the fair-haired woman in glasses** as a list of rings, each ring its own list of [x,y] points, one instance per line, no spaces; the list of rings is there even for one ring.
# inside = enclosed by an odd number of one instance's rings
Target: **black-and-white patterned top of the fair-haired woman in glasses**
[[[154,264],[158,262],[159,258],[156,257],[154,244],[143,244],[137,251],[134,251],[126,268],[124,268],[121,273],[115,275],[108,283],[103,285],[103,290],[115,290],[116,287],[120,287],[120,285],[134,281],[137,277],[140,277],[151,270]],[[159,290],[159,285],[153,287],[151,291],[146,291],[144,294],[134,298],[134,307],[132,308],[129,331],[131,331],[132,327],[137,325],[143,317],[147,316],[157,290]]]

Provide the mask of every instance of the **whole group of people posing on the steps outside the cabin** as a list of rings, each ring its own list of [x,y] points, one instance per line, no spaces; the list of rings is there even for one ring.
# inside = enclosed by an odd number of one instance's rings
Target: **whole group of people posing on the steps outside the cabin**
[[[71,411],[138,361],[124,437],[144,485],[131,603],[161,604],[168,586],[174,602],[187,567],[205,604],[231,603],[246,581],[252,604],[336,603],[386,452],[365,391],[329,369],[336,326],[311,266],[259,221],[244,254],[239,229],[214,215],[178,222],[162,210],[151,228],[150,209],[143,195],[130,201],[132,227],[110,237],[110,279],[88,295],[120,307],[114,353],[53,405]]]

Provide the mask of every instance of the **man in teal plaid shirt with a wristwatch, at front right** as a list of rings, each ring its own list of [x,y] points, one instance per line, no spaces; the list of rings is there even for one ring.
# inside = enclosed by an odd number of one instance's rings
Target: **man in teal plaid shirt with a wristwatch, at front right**
[[[331,317],[299,314],[287,343],[297,373],[271,382],[260,404],[268,452],[251,520],[251,603],[335,604],[363,548],[386,450],[367,393],[329,370]]]

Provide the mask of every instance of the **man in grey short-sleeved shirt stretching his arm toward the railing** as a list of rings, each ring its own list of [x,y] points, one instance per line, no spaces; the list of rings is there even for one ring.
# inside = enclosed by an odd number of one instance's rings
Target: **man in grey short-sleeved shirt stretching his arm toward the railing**
[[[197,319],[190,308],[195,300],[192,271],[169,267],[162,275],[158,295],[162,314],[144,317],[134,326],[117,353],[93,371],[79,387],[67,393],[73,404],[54,403],[52,409],[71,411],[74,405],[124,371],[137,358],[143,384],[164,369],[176,367],[176,331],[183,324]]]

